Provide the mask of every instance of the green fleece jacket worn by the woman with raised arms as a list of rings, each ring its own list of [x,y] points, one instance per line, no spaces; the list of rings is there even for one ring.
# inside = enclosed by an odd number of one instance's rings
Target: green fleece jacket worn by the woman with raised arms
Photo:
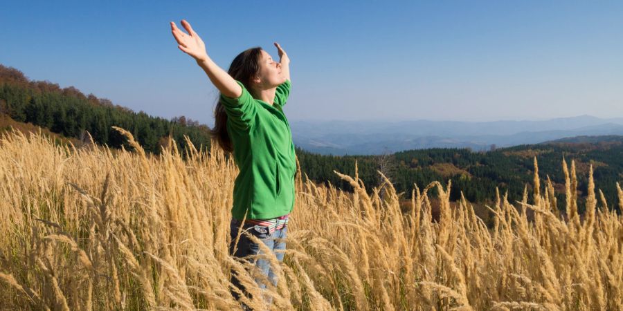
[[[242,86],[238,98],[220,96],[227,113],[227,133],[240,173],[234,183],[232,217],[270,219],[294,207],[296,158],[290,125],[282,107],[290,81],[277,87],[273,105],[254,99]]]

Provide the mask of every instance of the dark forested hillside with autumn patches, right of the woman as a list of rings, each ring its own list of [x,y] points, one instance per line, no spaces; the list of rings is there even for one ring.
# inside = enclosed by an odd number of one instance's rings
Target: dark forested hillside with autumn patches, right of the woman
[[[580,194],[586,194],[588,170],[593,164],[595,187],[604,191],[607,202],[613,207],[617,202],[616,182],[623,181],[623,136],[521,145],[488,152],[422,149],[386,156],[320,156],[297,149],[296,154],[301,171],[317,182],[330,182],[350,190],[350,185],[340,180],[333,170],[354,175],[356,160],[359,177],[367,188],[379,185],[377,170],[383,171],[397,192],[405,192],[404,198],[410,198],[414,184],[421,189],[435,180],[452,180],[451,200],[460,199],[462,191],[471,202],[490,202],[496,187],[500,194],[508,191],[511,202],[521,200],[524,187],[532,190],[534,157],[539,161],[539,175],[552,180],[560,206],[564,202],[563,158],[569,165],[575,161]]]

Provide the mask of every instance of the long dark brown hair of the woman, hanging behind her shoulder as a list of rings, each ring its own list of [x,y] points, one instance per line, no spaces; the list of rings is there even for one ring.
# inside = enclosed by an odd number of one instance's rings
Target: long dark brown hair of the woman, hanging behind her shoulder
[[[258,75],[260,72],[261,51],[262,48],[259,46],[244,50],[233,59],[231,65],[229,65],[229,70],[227,70],[227,73],[235,80],[242,82],[242,85],[244,85],[248,91],[251,91],[251,78]],[[217,139],[219,146],[226,153],[233,152],[233,145],[227,133],[227,114],[225,113],[225,107],[221,100],[219,100],[215,108],[214,119],[214,128],[210,130],[212,138]]]

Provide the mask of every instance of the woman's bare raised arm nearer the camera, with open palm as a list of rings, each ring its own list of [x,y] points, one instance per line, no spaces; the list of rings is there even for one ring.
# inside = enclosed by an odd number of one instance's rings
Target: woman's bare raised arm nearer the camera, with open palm
[[[197,64],[204,69],[210,81],[218,88],[222,95],[234,98],[240,97],[240,95],[242,95],[242,87],[236,83],[231,75],[208,57],[204,41],[201,40],[195,30],[192,30],[190,23],[182,19],[181,25],[188,31],[188,34],[177,28],[174,22],[171,22],[171,32],[177,41],[177,47],[182,50],[183,53],[192,56],[192,58],[197,61]]]

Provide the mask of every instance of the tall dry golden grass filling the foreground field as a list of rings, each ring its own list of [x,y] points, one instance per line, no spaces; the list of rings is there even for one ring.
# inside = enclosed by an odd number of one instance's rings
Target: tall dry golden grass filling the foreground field
[[[230,271],[254,283],[227,252],[235,164],[195,150],[187,161],[175,149],[152,158],[129,139],[136,151],[115,154],[42,135],[0,141],[0,309],[239,308]],[[340,174],[356,189],[346,194],[299,173],[285,261],[269,258],[280,275],[272,308],[621,310],[623,220],[595,193],[592,171],[580,220],[573,162],[563,170],[568,220],[535,174],[523,202],[491,194],[492,230],[469,202],[449,202],[449,185],[415,190],[401,213],[390,183],[381,201],[357,176]],[[255,297],[246,302],[265,308]]]

